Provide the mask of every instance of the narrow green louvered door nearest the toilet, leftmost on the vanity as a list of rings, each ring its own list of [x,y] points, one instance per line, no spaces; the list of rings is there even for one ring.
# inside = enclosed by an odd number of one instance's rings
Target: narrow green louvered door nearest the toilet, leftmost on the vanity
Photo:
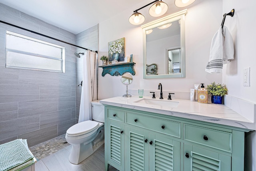
[[[124,171],[124,125],[108,119],[108,164]]]

